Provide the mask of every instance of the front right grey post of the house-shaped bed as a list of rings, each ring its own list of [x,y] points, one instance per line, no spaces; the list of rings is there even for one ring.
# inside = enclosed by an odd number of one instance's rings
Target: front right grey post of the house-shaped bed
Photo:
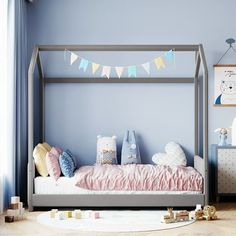
[[[199,53],[203,65],[203,158],[205,162],[205,204],[209,202],[209,188],[208,188],[208,70],[206,58],[202,44],[199,45]]]

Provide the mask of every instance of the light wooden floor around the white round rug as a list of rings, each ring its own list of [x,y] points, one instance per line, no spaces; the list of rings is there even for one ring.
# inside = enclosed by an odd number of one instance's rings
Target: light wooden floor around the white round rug
[[[63,236],[63,235],[80,235],[80,236],[189,236],[189,235],[214,235],[214,236],[231,236],[236,235],[236,203],[220,203],[215,204],[217,209],[218,220],[215,221],[198,221],[188,226],[150,232],[137,233],[95,233],[95,232],[79,232],[73,230],[60,230],[37,223],[36,217],[41,213],[39,211],[27,213],[27,219],[14,223],[4,223],[3,215],[0,216],[0,235],[1,236]],[[141,223],[141,222],[140,222]]]

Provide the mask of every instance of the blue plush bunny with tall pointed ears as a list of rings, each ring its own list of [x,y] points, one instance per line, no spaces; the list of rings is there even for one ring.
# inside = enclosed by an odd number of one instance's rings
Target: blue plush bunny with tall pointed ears
[[[126,131],[121,150],[121,164],[141,164],[139,147],[135,131]]]

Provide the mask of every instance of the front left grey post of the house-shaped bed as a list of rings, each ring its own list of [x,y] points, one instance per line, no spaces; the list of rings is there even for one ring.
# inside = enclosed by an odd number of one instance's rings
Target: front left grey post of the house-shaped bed
[[[34,179],[34,163],[33,163],[33,147],[34,147],[34,70],[38,56],[38,47],[33,49],[28,70],[28,209],[33,210],[33,179]]]

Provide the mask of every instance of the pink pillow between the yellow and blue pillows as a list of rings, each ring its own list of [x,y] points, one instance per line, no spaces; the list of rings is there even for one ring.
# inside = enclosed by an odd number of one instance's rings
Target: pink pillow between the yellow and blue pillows
[[[53,147],[50,152],[46,154],[46,166],[48,173],[56,181],[61,175],[61,169],[59,165],[59,156],[62,153],[62,150],[58,147]]]

